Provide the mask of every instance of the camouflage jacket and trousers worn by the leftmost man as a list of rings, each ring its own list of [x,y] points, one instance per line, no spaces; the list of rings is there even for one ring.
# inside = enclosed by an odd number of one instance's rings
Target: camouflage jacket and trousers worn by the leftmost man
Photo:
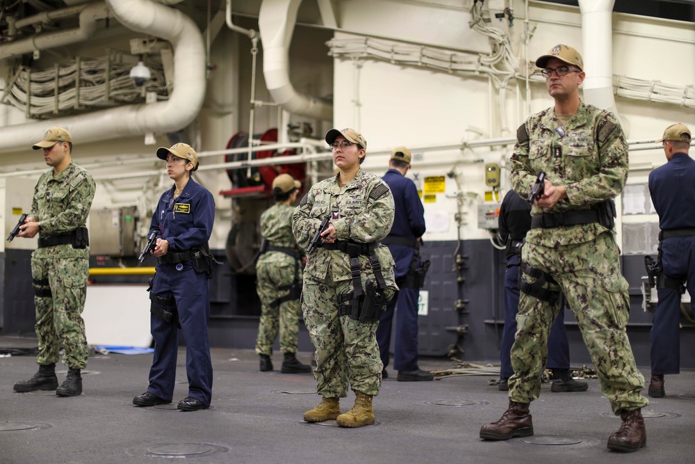
[[[95,182],[90,173],[72,162],[56,176],[52,169],[44,173],[35,186],[29,214],[41,223],[40,237],[85,227],[94,193]],[[31,275],[34,280],[43,281],[34,284],[36,290],[44,294],[47,280],[51,294],[34,296],[39,339],[36,362],[57,362],[62,344],[63,363],[72,369],[83,369],[88,355],[81,317],[89,276],[88,248],[75,249],[70,243],[37,248],[31,254]]]

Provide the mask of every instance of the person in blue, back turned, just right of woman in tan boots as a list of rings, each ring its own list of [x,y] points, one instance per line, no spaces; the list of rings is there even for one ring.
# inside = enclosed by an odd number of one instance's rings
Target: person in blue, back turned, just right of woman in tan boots
[[[384,363],[382,378],[386,378],[391,345],[393,313],[398,307],[393,346],[393,368],[398,371],[398,381],[431,381],[434,376],[418,366],[418,296],[420,290],[408,283],[408,270],[415,257],[419,265],[420,237],[425,233],[425,209],[418,189],[405,177],[410,168],[411,153],[406,147],[398,147],[391,153],[389,170],[382,179],[391,188],[395,202],[395,219],[389,237],[382,243],[389,247],[395,261],[395,280],[399,291],[386,303],[377,327],[377,343]]]

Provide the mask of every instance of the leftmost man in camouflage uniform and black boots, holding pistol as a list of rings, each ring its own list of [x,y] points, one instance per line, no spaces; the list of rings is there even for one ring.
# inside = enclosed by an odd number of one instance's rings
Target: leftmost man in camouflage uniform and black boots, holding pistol
[[[81,314],[89,277],[85,224],[95,182],[72,163],[72,137],[62,127],[51,127],[33,149],[43,150],[46,164],[53,167],[36,184],[31,212],[17,234],[29,239],[39,234],[31,254],[39,370],[28,381],[15,383],[15,391],[56,390],[59,397],[74,397],[82,393],[81,369],[87,366]],[[68,371],[58,387],[55,367],[61,346]]]

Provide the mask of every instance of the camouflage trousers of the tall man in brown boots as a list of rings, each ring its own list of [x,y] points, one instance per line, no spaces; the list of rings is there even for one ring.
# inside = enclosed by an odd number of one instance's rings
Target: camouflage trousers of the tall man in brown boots
[[[613,235],[605,232],[596,240],[549,248],[525,243],[522,261],[553,276],[562,287],[579,323],[584,343],[594,362],[600,388],[614,413],[648,405],[640,394],[644,377],[635,366],[626,324],[630,312],[628,282],[620,273],[619,250]],[[528,274],[523,277],[533,282]],[[545,287],[557,290],[557,285]],[[509,378],[509,399],[529,403],[541,391],[541,374],[548,357],[548,332],[557,316],[550,305],[521,293],[512,346],[514,376]]]

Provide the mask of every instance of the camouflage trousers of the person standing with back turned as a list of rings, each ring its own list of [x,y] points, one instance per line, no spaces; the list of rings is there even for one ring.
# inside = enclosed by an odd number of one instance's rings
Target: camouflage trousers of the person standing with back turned
[[[256,353],[272,355],[272,345],[279,330],[280,351],[297,353],[297,333],[300,330],[301,306],[299,298],[272,305],[289,294],[279,287],[291,285],[295,280],[295,264],[259,261],[256,266],[256,291],[261,298],[261,321],[256,337]]]

